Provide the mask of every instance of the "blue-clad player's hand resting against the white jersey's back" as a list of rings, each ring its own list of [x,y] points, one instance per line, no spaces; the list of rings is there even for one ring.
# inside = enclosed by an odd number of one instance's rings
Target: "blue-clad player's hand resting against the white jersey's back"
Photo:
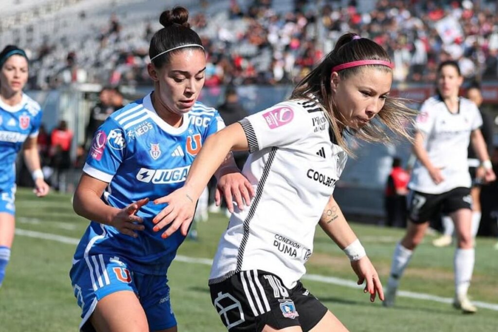
[[[244,203],[249,206],[255,195],[249,180],[242,175],[238,168],[227,168],[221,171],[215,192],[217,206],[221,204],[222,193],[230,213],[234,212],[234,199],[239,209],[244,210]]]

